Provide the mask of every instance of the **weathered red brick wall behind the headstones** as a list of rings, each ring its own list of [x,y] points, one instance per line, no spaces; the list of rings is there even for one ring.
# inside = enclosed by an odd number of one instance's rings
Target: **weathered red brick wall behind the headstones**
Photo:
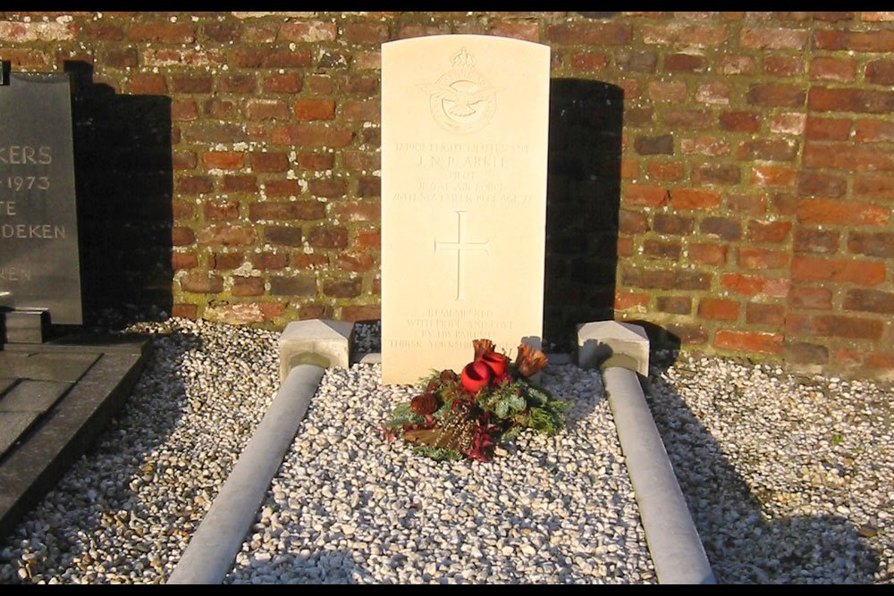
[[[173,314],[376,318],[379,45],[485,33],[624,89],[618,318],[894,371],[894,13],[0,13],[13,71],[172,100]]]

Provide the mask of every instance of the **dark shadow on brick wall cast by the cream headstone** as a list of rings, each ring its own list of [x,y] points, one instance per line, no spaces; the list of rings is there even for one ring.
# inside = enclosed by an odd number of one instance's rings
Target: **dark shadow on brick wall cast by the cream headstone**
[[[623,90],[550,83],[544,345],[569,350],[576,325],[613,318]]]

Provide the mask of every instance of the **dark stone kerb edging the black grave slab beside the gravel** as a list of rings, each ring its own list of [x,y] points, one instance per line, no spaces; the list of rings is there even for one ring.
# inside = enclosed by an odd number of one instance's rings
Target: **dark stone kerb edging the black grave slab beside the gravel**
[[[121,410],[151,343],[139,339],[129,347],[119,343],[104,351],[96,346],[101,354],[96,364],[0,462],[0,536],[13,531]]]

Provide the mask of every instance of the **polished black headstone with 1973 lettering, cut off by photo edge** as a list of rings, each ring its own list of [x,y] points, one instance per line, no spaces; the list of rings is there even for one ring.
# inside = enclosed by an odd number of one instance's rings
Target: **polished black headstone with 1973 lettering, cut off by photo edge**
[[[13,73],[0,86],[0,306],[81,323],[67,75]]]

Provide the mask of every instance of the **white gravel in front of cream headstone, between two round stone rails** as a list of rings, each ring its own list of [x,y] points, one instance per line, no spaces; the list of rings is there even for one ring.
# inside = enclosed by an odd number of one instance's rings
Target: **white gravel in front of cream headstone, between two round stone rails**
[[[567,432],[526,433],[489,464],[435,463],[376,429],[418,390],[380,365],[330,370],[232,583],[640,583],[654,567],[602,380],[544,385],[575,404]]]

